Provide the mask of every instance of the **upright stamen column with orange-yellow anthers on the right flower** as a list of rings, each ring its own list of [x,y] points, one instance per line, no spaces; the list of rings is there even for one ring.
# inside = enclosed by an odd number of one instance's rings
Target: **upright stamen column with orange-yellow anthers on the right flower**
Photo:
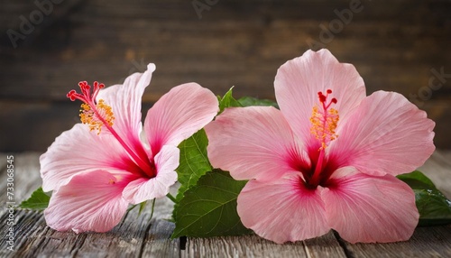
[[[312,124],[310,128],[311,134],[315,135],[315,138],[321,143],[318,152],[318,161],[313,172],[312,177],[308,181],[311,186],[318,186],[321,170],[323,169],[324,156],[328,144],[336,139],[336,124],[339,120],[338,111],[335,108],[330,108],[332,104],[336,104],[336,98],[332,98],[327,102],[327,97],[332,94],[331,89],[327,89],[326,95],[321,91],[318,92],[318,99],[320,106],[313,106],[310,122]]]

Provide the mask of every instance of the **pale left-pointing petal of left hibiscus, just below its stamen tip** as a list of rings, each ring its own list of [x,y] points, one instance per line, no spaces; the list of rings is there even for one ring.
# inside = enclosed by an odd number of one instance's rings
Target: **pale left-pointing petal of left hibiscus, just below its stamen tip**
[[[69,182],[79,172],[89,170],[129,170],[133,162],[111,134],[89,132],[76,124],[58,136],[41,155],[42,189],[51,191]]]

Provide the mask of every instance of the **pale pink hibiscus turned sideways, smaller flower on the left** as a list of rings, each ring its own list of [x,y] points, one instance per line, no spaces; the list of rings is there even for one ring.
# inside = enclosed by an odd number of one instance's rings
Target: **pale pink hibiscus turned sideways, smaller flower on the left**
[[[155,65],[106,89],[80,82],[82,124],[64,132],[41,155],[42,189],[53,191],[44,212],[51,228],[106,232],[129,205],[168,194],[177,180],[177,146],[210,122],[215,95],[196,83],[172,88],[141,123],[141,97]],[[143,134],[141,134],[143,131]]]

